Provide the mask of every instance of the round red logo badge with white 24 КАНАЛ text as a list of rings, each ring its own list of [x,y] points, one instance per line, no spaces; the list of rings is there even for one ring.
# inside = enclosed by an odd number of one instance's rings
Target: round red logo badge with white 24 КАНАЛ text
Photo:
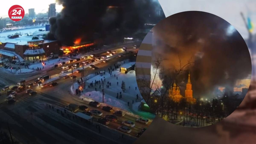
[[[9,18],[13,21],[20,21],[23,19],[25,12],[20,5],[13,5],[8,11]]]

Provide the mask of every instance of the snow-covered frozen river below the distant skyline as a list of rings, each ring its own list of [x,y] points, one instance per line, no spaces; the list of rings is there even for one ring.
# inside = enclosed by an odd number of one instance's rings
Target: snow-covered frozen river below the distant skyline
[[[32,34],[33,32],[38,31],[38,29],[45,30],[45,26],[43,26],[43,27],[36,27],[36,28],[25,28],[25,29],[18,29],[18,30],[0,32],[0,37],[4,37],[4,36],[8,36],[8,35],[14,35],[15,33],[20,33],[20,32],[21,32],[22,35],[25,35],[26,33]]]

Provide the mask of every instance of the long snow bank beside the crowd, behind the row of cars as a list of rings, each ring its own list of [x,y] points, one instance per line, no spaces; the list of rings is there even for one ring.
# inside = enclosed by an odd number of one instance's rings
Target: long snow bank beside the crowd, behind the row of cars
[[[102,93],[98,91],[86,92],[83,95],[81,95],[80,98],[84,98],[87,100],[91,99],[90,101],[95,100],[98,102],[102,102]],[[104,95],[104,103],[111,105],[113,107],[129,110],[129,107],[126,102],[115,99],[107,94]]]

